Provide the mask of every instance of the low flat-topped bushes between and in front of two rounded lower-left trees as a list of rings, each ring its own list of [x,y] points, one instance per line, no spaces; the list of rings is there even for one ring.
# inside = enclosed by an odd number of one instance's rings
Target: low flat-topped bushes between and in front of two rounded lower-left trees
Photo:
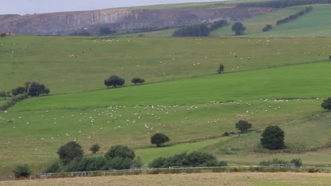
[[[66,166],[66,172],[104,171],[108,161],[103,156],[76,158]]]

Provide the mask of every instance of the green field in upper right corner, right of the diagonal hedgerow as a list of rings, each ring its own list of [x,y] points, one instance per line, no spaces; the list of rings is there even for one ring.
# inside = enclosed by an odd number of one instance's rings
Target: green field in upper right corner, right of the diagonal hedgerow
[[[269,32],[248,37],[330,37],[331,6],[313,6],[313,11],[290,23],[274,27]]]

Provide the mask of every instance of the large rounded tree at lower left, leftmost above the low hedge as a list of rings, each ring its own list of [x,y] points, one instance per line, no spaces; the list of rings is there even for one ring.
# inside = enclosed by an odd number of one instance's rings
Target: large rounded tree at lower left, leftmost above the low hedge
[[[69,142],[60,147],[57,154],[59,154],[59,158],[62,163],[66,165],[73,159],[83,157],[83,149],[81,149],[80,144],[76,142]]]

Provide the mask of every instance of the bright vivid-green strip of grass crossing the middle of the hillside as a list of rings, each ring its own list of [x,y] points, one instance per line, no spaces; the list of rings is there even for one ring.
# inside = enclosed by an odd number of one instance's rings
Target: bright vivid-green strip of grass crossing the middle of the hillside
[[[331,63],[267,68],[151,85],[25,99],[11,111],[328,97]],[[310,76],[313,75],[313,76]],[[309,89],[307,89],[309,87]],[[185,99],[182,99],[185,97]],[[83,100],[83,101],[82,101]]]

